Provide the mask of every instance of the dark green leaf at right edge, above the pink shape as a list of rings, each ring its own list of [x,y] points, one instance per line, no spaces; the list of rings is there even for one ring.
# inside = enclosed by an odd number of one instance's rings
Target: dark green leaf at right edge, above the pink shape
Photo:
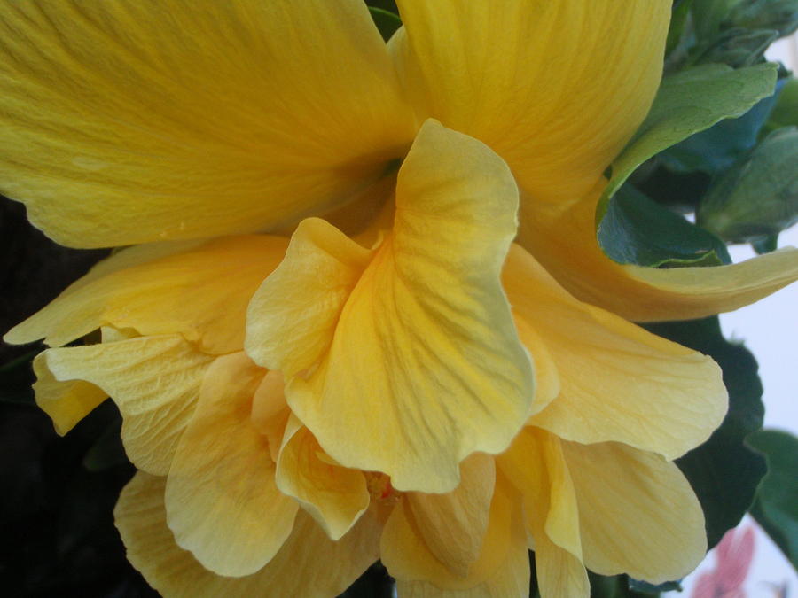
[[[798,439],[786,431],[763,430],[749,434],[747,444],[768,462],[751,514],[798,569]]]

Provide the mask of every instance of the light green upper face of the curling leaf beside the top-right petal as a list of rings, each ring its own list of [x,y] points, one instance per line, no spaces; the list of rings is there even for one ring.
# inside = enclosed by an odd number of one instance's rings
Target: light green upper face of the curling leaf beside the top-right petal
[[[720,120],[746,113],[773,93],[775,83],[775,65],[738,70],[704,65],[665,77],[645,121],[613,163],[612,178],[599,201],[597,222],[615,191],[645,160]]]

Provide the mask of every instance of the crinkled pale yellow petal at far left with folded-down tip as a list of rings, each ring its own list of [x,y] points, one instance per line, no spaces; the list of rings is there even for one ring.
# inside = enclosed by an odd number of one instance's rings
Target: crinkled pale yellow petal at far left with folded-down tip
[[[165,475],[211,361],[212,356],[176,335],[48,349],[37,358],[42,377],[35,384],[36,400],[66,431],[76,416],[88,413],[80,409],[90,406],[75,403],[75,381],[94,384],[119,407],[130,461],[140,470]],[[64,385],[59,388],[53,381]],[[55,402],[64,399],[70,402],[61,411]]]

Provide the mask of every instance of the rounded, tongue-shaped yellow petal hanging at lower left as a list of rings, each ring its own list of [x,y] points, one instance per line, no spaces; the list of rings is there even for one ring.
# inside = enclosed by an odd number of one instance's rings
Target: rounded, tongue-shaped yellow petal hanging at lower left
[[[298,508],[278,490],[269,447],[249,419],[264,373],[243,352],[214,361],[168,472],[169,528],[219,575],[250,575],[269,563]]]

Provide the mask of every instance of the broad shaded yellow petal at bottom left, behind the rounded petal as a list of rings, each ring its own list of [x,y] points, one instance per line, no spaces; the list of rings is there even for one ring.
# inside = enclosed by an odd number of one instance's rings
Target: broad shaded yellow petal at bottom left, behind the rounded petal
[[[114,510],[130,563],[165,596],[330,598],[351,585],[379,555],[379,524],[371,512],[338,542],[300,512],[291,536],[261,571],[241,578],[215,575],[175,543],[166,522],[165,485],[165,478],[139,472],[122,490]]]

